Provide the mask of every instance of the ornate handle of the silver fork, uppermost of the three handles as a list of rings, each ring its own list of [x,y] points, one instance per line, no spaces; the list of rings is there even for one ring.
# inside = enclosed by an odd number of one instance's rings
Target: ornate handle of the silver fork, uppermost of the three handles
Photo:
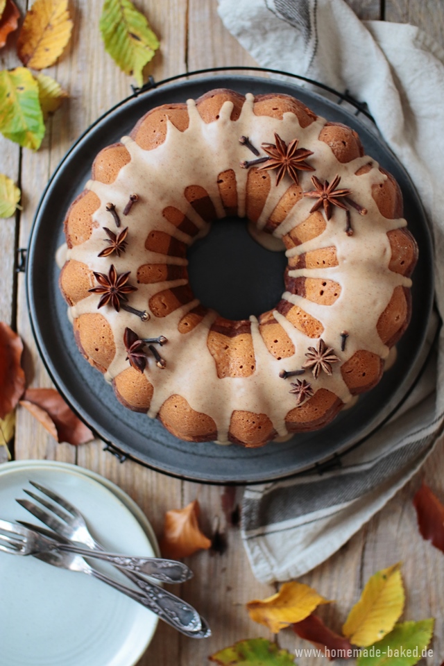
[[[135,574],[152,576],[164,583],[183,583],[192,576],[192,572],[187,565],[174,560],[117,555],[96,549],[91,550],[89,548],[81,548],[80,546],[78,547],[71,544],[60,544],[58,545],[58,549],[71,553],[78,553],[84,557],[94,557],[109,562],[119,568],[124,568],[126,571],[134,572]]]

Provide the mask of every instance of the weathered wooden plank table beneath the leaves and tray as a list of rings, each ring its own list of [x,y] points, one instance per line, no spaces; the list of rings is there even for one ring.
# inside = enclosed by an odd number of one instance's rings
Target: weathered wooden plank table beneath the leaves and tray
[[[18,4],[23,13],[26,1],[19,0]],[[350,5],[364,19],[384,18],[416,24],[443,44],[444,4],[440,0],[381,0],[380,4],[378,0],[351,0]],[[7,173],[23,191],[22,213],[17,219],[0,221],[0,247],[3,248],[0,320],[12,323],[24,340],[24,366],[31,386],[51,386],[51,381],[31,333],[24,275],[15,273],[16,250],[28,243],[37,202],[59,160],[90,123],[130,93],[130,79],[121,74],[105,53],[99,37],[102,2],[76,0],[70,6],[73,36],[58,65],[48,72],[69,92],[69,101],[49,121],[42,148],[37,153],[22,150],[0,137],[0,172]],[[216,12],[216,0],[138,0],[137,6],[149,17],[162,40],[160,52],[148,67],[156,80],[202,67],[257,65],[223,27]],[[11,42],[13,44],[13,40]],[[10,46],[0,55],[2,68],[18,64],[15,50]],[[135,499],[151,520],[157,536],[162,533],[165,511],[185,506],[196,496],[207,534],[212,532],[214,520],[219,518],[227,536],[228,550],[223,555],[200,552],[189,558],[195,577],[176,590],[207,617],[213,629],[212,638],[189,640],[160,622],[139,666],[204,665],[208,655],[236,640],[255,636],[273,640],[273,635],[263,626],[249,619],[244,604],[249,599],[273,594],[275,586],[258,583],[250,572],[239,529],[225,524],[221,509],[223,488],[172,479],[132,461],[120,464],[114,456],[103,452],[100,441],[78,448],[59,445],[26,409],[18,410],[14,455],[17,460],[67,461],[99,472]],[[302,579],[324,597],[336,599],[336,604],[322,608],[320,615],[333,629],[339,630],[368,577],[402,560],[407,588],[404,617],[410,620],[436,617],[435,656],[427,661],[434,666],[441,664],[444,655],[444,559],[441,552],[418,535],[411,499],[421,477],[444,497],[443,469],[444,448],[439,446],[406,488],[336,555]],[[238,501],[241,494],[238,488]],[[291,651],[303,645],[290,630],[281,632],[276,640]],[[300,660],[302,666],[321,663],[326,662],[322,658]]]

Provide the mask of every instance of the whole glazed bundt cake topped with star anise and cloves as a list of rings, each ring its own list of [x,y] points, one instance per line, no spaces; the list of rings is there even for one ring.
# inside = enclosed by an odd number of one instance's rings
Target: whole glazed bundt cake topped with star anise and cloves
[[[279,302],[242,321],[201,305],[187,275],[188,246],[232,215],[288,257]],[[379,382],[411,313],[406,224],[354,130],[291,96],[216,89],[96,156],[60,288],[123,405],[182,440],[256,447],[325,426]]]

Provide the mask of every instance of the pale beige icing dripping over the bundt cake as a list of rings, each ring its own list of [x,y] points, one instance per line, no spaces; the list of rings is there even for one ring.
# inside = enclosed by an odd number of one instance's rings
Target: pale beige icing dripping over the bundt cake
[[[345,214],[334,208],[332,219],[320,236],[307,241],[298,247],[287,250],[287,256],[300,255],[316,248],[336,247],[339,266],[314,269],[301,268],[290,271],[296,277],[325,278],[334,280],[341,285],[341,294],[333,305],[318,305],[306,298],[291,293],[284,293],[283,298],[299,305],[321,321],[324,327],[322,337],[325,343],[334,348],[334,352],[342,362],[347,361],[359,349],[375,352],[382,358],[388,355],[388,348],[379,339],[376,330],[377,320],[388,304],[393,289],[398,285],[409,287],[411,281],[388,269],[391,249],[386,232],[400,228],[406,224],[402,219],[388,220],[380,214],[373,197],[372,185],[384,182],[386,176],[379,172],[378,164],[369,157],[359,157],[348,164],[336,160],[331,149],[325,142],[318,140],[318,135],[325,125],[325,119],[319,117],[308,127],[301,128],[297,117],[285,113],[282,120],[267,116],[256,116],[253,112],[253,95],[247,94],[246,101],[237,121],[230,120],[233,104],[226,101],[220,112],[219,119],[205,123],[200,117],[193,100],[188,101],[189,127],[180,132],[170,121],[167,121],[167,137],[163,144],[151,151],[144,151],[130,137],[123,137],[122,142],[130,153],[131,160],[124,166],[112,185],[90,180],[87,189],[91,189],[101,200],[99,210],[94,213],[93,220],[98,226],[92,229],[91,237],[85,243],[75,246],[66,252],[67,259],[76,259],[87,264],[91,271],[108,273],[110,264],[114,264],[118,273],[131,268],[130,284],[137,285],[137,291],[130,294],[129,304],[140,310],[148,309],[148,301],[159,291],[170,289],[186,280],[169,280],[155,284],[137,284],[136,271],[143,264],[174,264],[186,266],[187,259],[171,257],[146,250],[145,240],[148,232],[158,230],[166,232],[186,244],[191,244],[188,234],[178,230],[162,215],[167,206],[176,207],[199,228],[197,237],[205,235],[210,225],[205,223],[189,205],[184,196],[185,188],[200,185],[210,196],[219,217],[225,216],[223,203],[217,185],[219,173],[233,169],[237,180],[238,214],[245,216],[246,181],[248,170],[239,166],[241,160],[250,160],[253,155],[246,146],[239,144],[239,137],[246,135],[250,142],[260,148],[263,142],[274,142],[274,133],[289,142],[298,137],[299,147],[309,148],[314,155],[307,158],[309,164],[316,168],[316,176],[321,180],[332,180],[336,173],[341,175],[340,187],[348,187],[352,198],[368,210],[366,216],[351,209],[350,215],[354,235],[345,234]],[[371,162],[368,173],[356,176],[359,167]],[[286,176],[278,187],[275,187],[275,172],[271,174],[271,190],[266,204],[255,225],[255,237],[264,245],[282,248],[282,236],[288,233],[309,215],[314,201],[302,198],[287,215],[284,222],[275,230],[273,237],[265,234],[262,229],[278,204],[281,196],[291,185]],[[314,173],[314,172],[313,172]],[[300,186],[303,191],[313,189],[310,172],[300,171]],[[108,202],[114,203],[119,213],[128,202],[131,193],[137,193],[139,200],[128,216],[122,216],[121,228],[128,226],[128,246],[121,257],[115,254],[108,258],[97,257],[105,246],[105,232],[102,227],[114,230],[114,222],[110,212],[105,210]],[[196,237],[195,237],[196,238]],[[60,253],[59,256],[61,256]],[[69,308],[72,319],[81,314],[96,313],[99,296],[92,294]],[[216,364],[207,347],[207,336],[216,313],[210,311],[194,330],[187,334],[178,332],[178,323],[182,316],[198,304],[194,300],[179,307],[165,318],[156,318],[151,312],[151,319],[142,322],[126,311],[117,313],[110,306],[100,309],[100,313],[108,320],[114,333],[116,354],[105,379],[110,382],[123,370],[128,368],[126,350],[123,345],[123,332],[126,327],[133,329],[139,337],[156,337],[166,335],[167,345],[162,348],[162,356],[167,359],[167,368],[161,370],[155,365],[155,359],[148,357],[145,370],[154,386],[153,400],[148,415],[154,417],[167,398],[173,394],[182,395],[190,407],[198,412],[211,416],[216,422],[218,441],[228,441],[230,416],[233,410],[245,410],[253,413],[266,413],[280,438],[287,436],[285,416],[296,407],[294,395],[289,393],[290,382],[279,377],[280,370],[296,369],[306,360],[305,353],[309,346],[316,346],[317,340],[309,339],[297,330],[278,311],[275,319],[289,335],[295,346],[292,357],[277,360],[268,352],[259,332],[255,317],[250,317],[251,334],[255,350],[255,372],[250,377],[224,377],[217,375]],[[349,337],[344,352],[341,352],[341,331],[348,330]],[[314,379],[311,373],[305,378],[314,391],[325,387],[333,391],[341,400],[350,402],[352,396],[341,376],[341,364],[334,364],[333,374],[327,377],[322,373]],[[281,440],[282,441],[282,440]]]

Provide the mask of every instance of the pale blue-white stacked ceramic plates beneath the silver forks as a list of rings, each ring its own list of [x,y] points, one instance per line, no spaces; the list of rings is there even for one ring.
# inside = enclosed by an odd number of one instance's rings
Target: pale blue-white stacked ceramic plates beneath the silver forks
[[[122,501],[123,491],[119,489],[117,495],[106,487],[110,484],[106,479],[99,477],[99,482],[92,473],[79,469],[47,461],[1,466],[0,517],[35,522],[15,502],[17,497],[26,497],[22,488],[31,488],[31,479],[77,506],[107,549],[154,555],[146,531]],[[119,577],[111,567],[106,572]],[[121,580],[126,581],[123,576]],[[2,664],[133,666],[156,626],[153,613],[101,581],[51,567],[31,556],[0,552]]]

